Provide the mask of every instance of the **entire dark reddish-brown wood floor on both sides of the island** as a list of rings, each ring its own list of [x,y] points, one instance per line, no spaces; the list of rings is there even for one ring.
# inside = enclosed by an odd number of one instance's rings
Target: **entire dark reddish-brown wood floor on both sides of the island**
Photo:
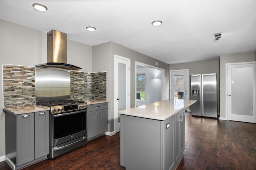
[[[184,158],[178,170],[256,170],[256,124],[186,116]],[[90,141],[24,170],[122,170],[119,133]],[[0,162],[0,170],[11,170]]]

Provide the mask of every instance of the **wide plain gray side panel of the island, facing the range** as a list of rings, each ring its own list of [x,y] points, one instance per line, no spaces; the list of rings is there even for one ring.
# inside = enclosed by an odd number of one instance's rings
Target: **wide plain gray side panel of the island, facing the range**
[[[162,122],[121,114],[120,162],[126,170],[162,169]]]

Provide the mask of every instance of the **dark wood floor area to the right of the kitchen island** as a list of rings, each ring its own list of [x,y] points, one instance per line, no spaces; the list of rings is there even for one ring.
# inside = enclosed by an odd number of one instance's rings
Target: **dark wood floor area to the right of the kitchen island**
[[[177,170],[256,170],[256,124],[188,115]]]

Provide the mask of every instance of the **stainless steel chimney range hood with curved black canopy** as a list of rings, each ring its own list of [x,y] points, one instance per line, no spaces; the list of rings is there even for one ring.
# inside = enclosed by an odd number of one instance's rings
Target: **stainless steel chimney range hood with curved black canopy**
[[[36,67],[62,68],[80,70],[82,68],[67,63],[67,34],[51,30],[47,33],[47,63]]]

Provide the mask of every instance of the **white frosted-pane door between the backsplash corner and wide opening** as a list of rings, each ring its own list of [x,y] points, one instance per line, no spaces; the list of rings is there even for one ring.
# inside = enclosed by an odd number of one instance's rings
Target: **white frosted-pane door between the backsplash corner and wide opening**
[[[120,131],[118,111],[130,108],[130,59],[114,56],[114,125]]]

